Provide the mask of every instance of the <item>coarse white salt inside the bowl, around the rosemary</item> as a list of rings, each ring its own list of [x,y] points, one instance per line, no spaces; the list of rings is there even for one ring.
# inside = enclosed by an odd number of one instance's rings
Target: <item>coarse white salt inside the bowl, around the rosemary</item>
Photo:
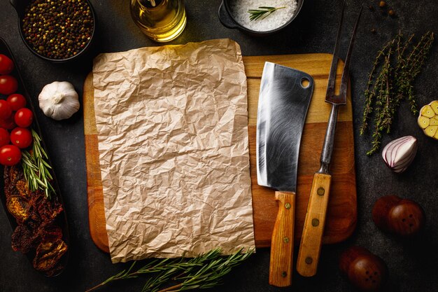
[[[262,16],[257,20],[250,20],[250,9],[260,9],[260,6],[269,7],[285,7],[274,11],[266,18]],[[239,25],[251,29],[255,32],[269,32],[270,30],[276,29],[285,25],[286,22],[292,18],[297,10],[297,0],[237,0],[232,1],[229,7],[230,13],[232,14],[234,20],[239,23]]]

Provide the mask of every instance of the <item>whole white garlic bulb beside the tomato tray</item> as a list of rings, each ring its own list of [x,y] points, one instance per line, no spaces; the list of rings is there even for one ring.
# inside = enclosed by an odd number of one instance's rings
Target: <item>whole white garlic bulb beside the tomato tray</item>
[[[66,81],[55,81],[45,85],[38,101],[45,116],[55,120],[70,118],[80,106],[78,93],[73,85]]]

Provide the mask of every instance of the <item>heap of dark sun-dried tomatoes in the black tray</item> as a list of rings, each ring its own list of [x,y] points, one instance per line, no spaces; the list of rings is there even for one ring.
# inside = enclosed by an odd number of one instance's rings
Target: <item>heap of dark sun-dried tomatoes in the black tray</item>
[[[55,220],[62,212],[58,197],[48,200],[43,190],[31,191],[19,165],[5,167],[3,178],[8,211],[17,218],[12,235],[14,251],[35,251],[33,264],[46,276],[54,276],[63,268],[61,258],[68,246],[62,240],[62,228]]]

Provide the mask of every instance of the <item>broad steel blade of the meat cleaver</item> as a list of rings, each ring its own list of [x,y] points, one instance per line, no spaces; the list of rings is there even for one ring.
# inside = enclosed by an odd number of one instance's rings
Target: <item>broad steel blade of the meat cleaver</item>
[[[309,74],[271,62],[264,64],[256,138],[260,186],[296,192],[299,144],[312,93]]]

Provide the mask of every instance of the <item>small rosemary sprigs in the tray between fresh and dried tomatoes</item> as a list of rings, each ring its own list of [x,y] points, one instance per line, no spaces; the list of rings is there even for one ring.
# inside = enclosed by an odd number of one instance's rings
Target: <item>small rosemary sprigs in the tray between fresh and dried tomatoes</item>
[[[52,167],[48,164],[48,155],[41,146],[41,138],[38,133],[33,129],[31,133],[34,139],[32,150],[22,151],[24,179],[26,179],[31,191],[43,190],[45,197],[50,199],[51,195],[55,193],[55,189],[50,183],[53,179],[52,174],[50,174]]]

